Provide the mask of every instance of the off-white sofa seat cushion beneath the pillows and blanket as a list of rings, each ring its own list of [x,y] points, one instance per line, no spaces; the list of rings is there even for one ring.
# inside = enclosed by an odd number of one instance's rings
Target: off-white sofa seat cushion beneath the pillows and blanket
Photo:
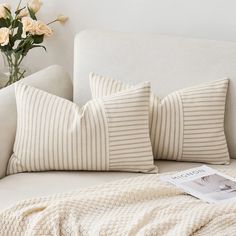
[[[159,172],[181,171],[201,166],[201,163],[157,161]],[[230,165],[209,165],[213,168],[233,168]],[[89,172],[89,171],[50,171],[19,173],[0,180],[0,211],[27,198],[46,196],[55,193],[73,191],[113,180],[144,175],[129,172]]]

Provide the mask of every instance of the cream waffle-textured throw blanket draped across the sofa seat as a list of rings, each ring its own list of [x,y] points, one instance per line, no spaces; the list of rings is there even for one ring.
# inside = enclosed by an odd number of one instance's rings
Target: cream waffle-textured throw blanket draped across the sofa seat
[[[159,175],[25,200],[0,213],[0,235],[235,235],[236,204],[207,204]]]

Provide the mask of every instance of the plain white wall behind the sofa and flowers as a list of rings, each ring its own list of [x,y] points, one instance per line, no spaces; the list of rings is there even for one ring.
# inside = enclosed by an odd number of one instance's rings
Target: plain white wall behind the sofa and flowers
[[[0,2],[4,2],[0,0]],[[16,4],[17,0],[8,0]],[[40,17],[49,21],[59,13],[70,17],[55,25],[47,40],[48,53],[35,49],[26,65],[37,71],[61,64],[72,74],[73,38],[85,28],[158,32],[197,38],[236,41],[235,0],[43,0]]]

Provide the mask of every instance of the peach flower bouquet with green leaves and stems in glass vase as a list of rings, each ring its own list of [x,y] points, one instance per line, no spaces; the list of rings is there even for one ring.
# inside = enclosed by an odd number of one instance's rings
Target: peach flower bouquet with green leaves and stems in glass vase
[[[21,65],[25,56],[33,48],[46,51],[42,43],[45,37],[53,34],[50,25],[67,20],[63,15],[47,24],[38,20],[36,14],[42,5],[40,0],[30,0],[26,6],[21,5],[22,0],[14,12],[8,4],[0,5],[0,50],[8,68],[3,87],[24,78],[26,70]]]

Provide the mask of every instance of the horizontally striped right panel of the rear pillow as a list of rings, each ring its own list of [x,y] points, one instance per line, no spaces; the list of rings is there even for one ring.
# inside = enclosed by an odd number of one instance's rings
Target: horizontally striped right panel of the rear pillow
[[[223,79],[180,91],[184,114],[183,160],[229,162],[224,132],[228,82]]]

